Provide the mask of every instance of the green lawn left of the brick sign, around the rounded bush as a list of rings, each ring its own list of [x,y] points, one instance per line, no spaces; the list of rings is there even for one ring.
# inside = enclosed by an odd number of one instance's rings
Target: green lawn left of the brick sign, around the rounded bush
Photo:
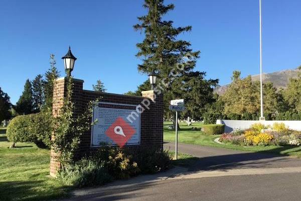
[[[32,143],[15,149],[0,128],[0,200],[44,200],[67,195],[70,189],[49,175],[50,151]]]

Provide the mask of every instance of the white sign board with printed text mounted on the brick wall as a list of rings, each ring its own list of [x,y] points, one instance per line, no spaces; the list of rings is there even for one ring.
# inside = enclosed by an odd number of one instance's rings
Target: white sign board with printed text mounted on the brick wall
[[[131,123],[127,117],[132,112],[135,112],[137,117],[131,119]],[[91,147],[99,147],[103,143],[140,144],[140,113],[136,112],[136,105],[97,102],[92,115],[92,120],[96,119],[97,123],[91,128]],[[121,139],[121,142],[118,139]]]

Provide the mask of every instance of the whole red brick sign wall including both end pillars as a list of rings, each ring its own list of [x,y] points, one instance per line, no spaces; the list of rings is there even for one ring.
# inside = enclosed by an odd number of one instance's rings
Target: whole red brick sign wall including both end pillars
[[[83,80],[73,79],[73,102],[75,104],[75,114],[82,113],[90,100],[99,98],[101,102],[117,103],[117,104],[129,104],[139,105],[144,98],[147,98],[150,102],[149,110],[145,108],[140,116],[140,145],[128,145],[131,148],[140,147],[157,147],[163,148],[163,115],[164,104],[163,94],[156,95],[154,90],[142,91],[142,96],[122,95],[106,92],[97,92],[91,90],[83,90]],[[62,106],[62,97],[65,94],[65,81],[64,79],[58,79],[55,82],[54,87],[54,103],[53,103],[53,116],[59,115],[60,107]],[[91,148],[91,130],[86,132],[81,138],[81,144],[78,155],[84,155],[85,153],[95,150],[97,148]],[[51,153],[50,162],[50,174],[55,175],[58,162],[55,160],[55,153]]]

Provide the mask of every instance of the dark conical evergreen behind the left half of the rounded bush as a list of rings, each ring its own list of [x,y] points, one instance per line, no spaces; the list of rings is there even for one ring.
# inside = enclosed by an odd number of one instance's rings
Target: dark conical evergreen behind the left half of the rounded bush
[[[33,113],[33,91],[32,85],[29,79],[26,80],[24,85],[24,91],[20,96],[17,104],[16,104],[16,111],[20,115],[28,115]]]

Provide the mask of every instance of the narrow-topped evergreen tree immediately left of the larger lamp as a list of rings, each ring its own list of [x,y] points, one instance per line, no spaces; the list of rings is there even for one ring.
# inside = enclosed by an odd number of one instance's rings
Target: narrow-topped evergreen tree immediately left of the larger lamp
[[[45,108],[52,110],[53,102],[53,86],[54,81],[59,78],[60,72],[56,68],[56,60],[54,54],[50,54],[50,68],[45,73],[44,93],[45,93]]]

